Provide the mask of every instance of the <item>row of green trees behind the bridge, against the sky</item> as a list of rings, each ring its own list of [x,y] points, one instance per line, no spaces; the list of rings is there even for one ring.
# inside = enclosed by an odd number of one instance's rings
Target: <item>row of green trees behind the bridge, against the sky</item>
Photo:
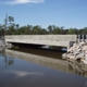
[[[65,34],[87,34],[87,27],[84,28],[64,28],[55,25],[49,25],[47,28],[42,28],[40,25],[26,25],[20,26],[14,23],[13,16],[8,16],[4,20],[4,24],[0,24],[0,35],[65,35]]]

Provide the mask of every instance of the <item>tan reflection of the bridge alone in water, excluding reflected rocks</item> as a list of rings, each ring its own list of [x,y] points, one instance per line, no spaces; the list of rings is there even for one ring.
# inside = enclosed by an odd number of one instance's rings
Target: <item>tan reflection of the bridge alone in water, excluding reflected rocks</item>
[[[5,50],[5,54],[9,54],[12,58],[18,58],[28,62],[37,63],[39,65],[52,67],[55,70],[67,71],[69,64],[64,60],[52,59],[49,57],[41,57],[32,53],[25,53],[14,50]]]

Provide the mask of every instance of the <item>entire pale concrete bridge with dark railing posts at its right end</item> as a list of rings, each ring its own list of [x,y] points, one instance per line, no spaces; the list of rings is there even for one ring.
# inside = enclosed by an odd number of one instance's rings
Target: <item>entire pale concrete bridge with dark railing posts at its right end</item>
[[[75,41],[84,40],[85,37],[84,35],[10,35],[5,36],[5,41],[13,44],[58,46],[69,49]]]

